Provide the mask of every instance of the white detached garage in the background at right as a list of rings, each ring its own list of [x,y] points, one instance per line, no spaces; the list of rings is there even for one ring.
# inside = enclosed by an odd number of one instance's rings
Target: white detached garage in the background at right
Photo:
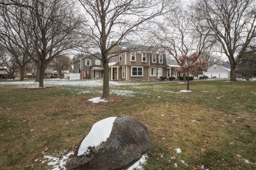
[[[209,67],[207,72],[204,72],[209,78],[216,77],[217,79],[228,79],[230,78],[230,69],[227,67],[214,64]]]

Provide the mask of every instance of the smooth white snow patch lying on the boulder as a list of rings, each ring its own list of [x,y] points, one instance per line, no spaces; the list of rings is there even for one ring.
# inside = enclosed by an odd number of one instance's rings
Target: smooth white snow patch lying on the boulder
[[[96,122],[82,141],[77,156],[89,154],[89,147],[98,147],[105,142],[109,138],[115,120],[116,117],[108,117]]]

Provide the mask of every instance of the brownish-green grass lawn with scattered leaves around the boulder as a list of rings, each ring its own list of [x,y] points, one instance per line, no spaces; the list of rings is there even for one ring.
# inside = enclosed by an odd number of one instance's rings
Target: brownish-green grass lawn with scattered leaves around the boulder
[[[185,94],[177,93],[186,89],[180,83],[116,86],[130,95],[92,104],[87,99],[99,97],[100,87],[0,84],[0,169],[48,169],[45,147],[49,155],[75,150],[93,123],[122,115],[150,132],[145,170],[256,169],[256,82],[198,80],[190,88]]]

